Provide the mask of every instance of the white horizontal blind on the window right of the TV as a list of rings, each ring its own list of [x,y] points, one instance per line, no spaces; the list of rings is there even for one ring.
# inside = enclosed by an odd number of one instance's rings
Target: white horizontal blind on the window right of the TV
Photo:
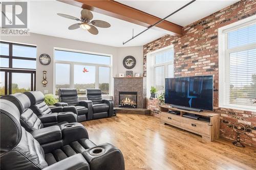
[[[224,105],[256,109],[256,25],[227,33]]]

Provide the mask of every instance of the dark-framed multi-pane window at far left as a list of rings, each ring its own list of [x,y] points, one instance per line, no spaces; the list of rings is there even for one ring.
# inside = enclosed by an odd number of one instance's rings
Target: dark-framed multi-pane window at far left
[[[1,94],[35,90],[36,47],[0,43]]]

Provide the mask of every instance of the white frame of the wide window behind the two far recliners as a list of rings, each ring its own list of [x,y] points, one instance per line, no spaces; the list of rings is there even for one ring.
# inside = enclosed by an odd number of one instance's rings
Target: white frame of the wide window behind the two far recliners
[[[110,65],[108,64],[94,64],[94,63],[86,63],[86,62],[74,62],[74,61],[63,61],[63,60],[55,60],[55,50],[58,51],[66,51],[66,52],[73,52],[73,53],[83,53],[83,54],[91,54],[91,55],[99,55],[104,57],[110,57]],[[112,55],[110,54],[101,54],[101,53],[93,53],[93,52],[85,52],[85,51],[77,51],[77,50],[70,50],[65,48],[54,48],[54,91],[56,91],[56,73],[55,73],[55,64],[70,64],[70,88],[74,88],[74,65],[87,65],[87,66],[95,66],[95,88],[99,88],[99,67],[109,67],[110,68],[110,75],[109,75],[109,94],[103,94],[106,96],[112,95]],[[84,96],[86,93],[78,93],[80,96]],[[57,96],[57,93],[54,93]]]

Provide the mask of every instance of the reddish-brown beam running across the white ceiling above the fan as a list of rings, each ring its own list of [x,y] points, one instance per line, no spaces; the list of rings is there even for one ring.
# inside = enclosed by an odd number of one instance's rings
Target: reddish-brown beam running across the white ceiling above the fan
[[[132,22],[143,27],[149,27],[161,19],[154,15],[145,13],[138,9],[126,6],[124,4],[121,4],[112,0],[102,0],[102,1],[58,0],[58,1],[66,4],[70,4],[79,8],[95,11],[97,13],[101,13],[104,15],[112,16],[128,22]],[[182,27],[179,25],[176,25],[175,23],[169,22],[167,20],[164,20],[163,22],[159,23],[152,29],[164,31],[169,35],[173,35],[177,37],[182,36]]]

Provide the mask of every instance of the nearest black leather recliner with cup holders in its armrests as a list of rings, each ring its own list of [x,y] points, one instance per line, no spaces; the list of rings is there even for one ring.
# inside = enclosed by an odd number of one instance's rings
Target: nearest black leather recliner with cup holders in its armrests
[[[95,145],[79,123],[32,134],[20,126],[18,108],[0,99],[0,168],[11,169],[124,169],[122,153],[109,143]],[[40,140],[34,136],[41,135]]]

